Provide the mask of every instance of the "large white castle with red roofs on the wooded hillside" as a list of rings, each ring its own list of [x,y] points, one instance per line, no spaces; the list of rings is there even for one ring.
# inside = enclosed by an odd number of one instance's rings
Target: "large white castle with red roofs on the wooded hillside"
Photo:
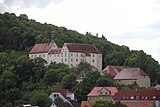
[[[102,71],[102,54],[93,44],[64,43],[62,48],[58,48],[54,40],[51,40],[51,43],[35,44],[29,57],[41,57],[48,64],[64,63],[70,67],[76,67],[80,62],[88,62],[98,71]]]

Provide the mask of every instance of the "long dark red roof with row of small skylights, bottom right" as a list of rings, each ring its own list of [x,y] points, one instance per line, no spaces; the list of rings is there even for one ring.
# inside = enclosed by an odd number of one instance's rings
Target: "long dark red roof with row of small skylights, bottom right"
[[[160,100],[160,90],[119,90],[114,100]]]

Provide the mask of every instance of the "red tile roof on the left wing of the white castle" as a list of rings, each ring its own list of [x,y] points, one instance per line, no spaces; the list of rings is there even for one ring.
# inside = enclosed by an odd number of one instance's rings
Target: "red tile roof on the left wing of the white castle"
[[[51,45],[49,43],[35,44],[32,50],[30,51],[30,54],[46,53],[50,50],[50,48]]]

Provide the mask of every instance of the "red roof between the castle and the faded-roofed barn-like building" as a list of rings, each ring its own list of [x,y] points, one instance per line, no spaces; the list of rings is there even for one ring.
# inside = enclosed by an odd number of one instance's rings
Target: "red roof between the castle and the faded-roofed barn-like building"
[[[124,68],[126,68],[126,67],[125,66],[108,65],[105,69],[103,69],[103,73],[105,75],[114,77],[114,76],[116,76]]]

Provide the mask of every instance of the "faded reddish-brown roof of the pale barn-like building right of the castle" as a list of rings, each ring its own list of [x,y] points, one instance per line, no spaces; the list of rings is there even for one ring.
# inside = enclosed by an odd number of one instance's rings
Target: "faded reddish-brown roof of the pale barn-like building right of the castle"
[[[147,76],[147,74],[142,71],[140,68],[125,68],[121,72],[119,72],[114,79],[116,80],[135,80],[139,76]]]

